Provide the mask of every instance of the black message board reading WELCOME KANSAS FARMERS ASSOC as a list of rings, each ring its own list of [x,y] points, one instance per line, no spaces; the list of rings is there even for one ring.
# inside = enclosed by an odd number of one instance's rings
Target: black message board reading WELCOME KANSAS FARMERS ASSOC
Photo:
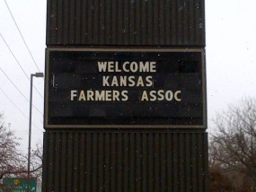
[[[204,127],[201,49],[48,49],[46,127]]]

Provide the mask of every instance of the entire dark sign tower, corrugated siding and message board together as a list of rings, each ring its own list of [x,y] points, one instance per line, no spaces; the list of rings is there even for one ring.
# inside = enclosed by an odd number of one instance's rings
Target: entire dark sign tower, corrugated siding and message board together
[[[204,0],[48,0],[42,191],[208,191]]]

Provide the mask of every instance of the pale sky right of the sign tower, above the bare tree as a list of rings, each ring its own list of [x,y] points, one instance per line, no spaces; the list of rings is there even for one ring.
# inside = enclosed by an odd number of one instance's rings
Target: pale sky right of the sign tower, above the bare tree
[[[256,96],[255,5],[206,0],[208,119],[230,103]]]

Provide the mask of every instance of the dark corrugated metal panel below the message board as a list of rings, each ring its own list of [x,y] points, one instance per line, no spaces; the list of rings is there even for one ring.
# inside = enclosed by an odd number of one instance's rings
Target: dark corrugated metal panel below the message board
[[[207,191],[207,134],[48,131],[43,191]]]

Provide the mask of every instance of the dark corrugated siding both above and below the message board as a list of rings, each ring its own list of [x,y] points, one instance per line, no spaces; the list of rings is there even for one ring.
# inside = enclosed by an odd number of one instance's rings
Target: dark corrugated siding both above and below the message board
[[[47,46],[205,48],[204,6],[204,0],[48,0]],[[42,191],[207,192],[206,129],[48,128]]]

